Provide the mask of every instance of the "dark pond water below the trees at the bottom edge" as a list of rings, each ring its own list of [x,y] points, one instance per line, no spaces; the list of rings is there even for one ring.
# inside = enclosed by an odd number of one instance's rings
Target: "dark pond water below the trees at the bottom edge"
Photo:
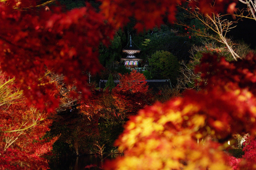
[[[96,155],[60,158],[49,163],[51,170],[99,170],[101,160]],[[93,165],[91,168],[85,168]]]

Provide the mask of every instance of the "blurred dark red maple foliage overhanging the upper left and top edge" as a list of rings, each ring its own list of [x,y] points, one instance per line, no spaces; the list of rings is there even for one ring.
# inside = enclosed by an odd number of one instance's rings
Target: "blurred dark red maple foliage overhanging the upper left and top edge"
[[[98,45],[108,45],[114,29],[135,17],[137,27],[149,29],[175,19],[176,1],[102,1],[97,13],[86,7],[63,12],[51,6],[45,10],[41,1],[7,0],[0,2],[0,61],[1,69],[15,76],[29,103],[48,111],[58,106],[59,99],[51,92],[54,87],[44,78],[46,68],[63,74],[67,84],[73,84],[86,97],[86,71],[99,71]],[[230,1],[191,1],[202,12],[220,11]],[[47,8],[48,9],[48,8]],[[107,22],[106,22],[107,20]]]

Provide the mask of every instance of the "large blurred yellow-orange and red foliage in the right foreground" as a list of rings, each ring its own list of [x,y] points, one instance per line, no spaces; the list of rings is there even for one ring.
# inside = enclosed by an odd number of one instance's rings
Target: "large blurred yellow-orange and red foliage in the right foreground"
[[[198,71],[208,84],[130,118],[116,141],[124,156],[105,169],[231,169],[222,142],[256,134],[255,62],[253,54],[230,63],[205,54]]]

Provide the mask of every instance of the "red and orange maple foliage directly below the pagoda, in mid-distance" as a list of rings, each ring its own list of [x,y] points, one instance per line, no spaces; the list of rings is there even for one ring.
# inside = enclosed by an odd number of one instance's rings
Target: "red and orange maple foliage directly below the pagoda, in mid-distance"
[[[130,74],[121,75],[120,83],[110,92],[92,91],[79,109],[88,118],[101,116],[112,122],[124,122],[130,115],[152,102],[145,76],[133,70]]]

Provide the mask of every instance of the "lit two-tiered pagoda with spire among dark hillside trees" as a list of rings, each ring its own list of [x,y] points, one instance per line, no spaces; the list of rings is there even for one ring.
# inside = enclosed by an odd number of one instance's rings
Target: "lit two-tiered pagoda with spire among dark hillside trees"
[[[133,46],[134,42],[132,43],[132,37],[130,35],[130,46],[129,42],[126,45],[126,47],[123,49],[123,52],[127,54],[126,58],[121,58],[121,62],[124,62],[125,67],[133,69],[138,67],[139,61],[142,61],[142,59],[136,58],[134,54],[139,53],[141,49],[136,45],[138,48],[135,48]]]

